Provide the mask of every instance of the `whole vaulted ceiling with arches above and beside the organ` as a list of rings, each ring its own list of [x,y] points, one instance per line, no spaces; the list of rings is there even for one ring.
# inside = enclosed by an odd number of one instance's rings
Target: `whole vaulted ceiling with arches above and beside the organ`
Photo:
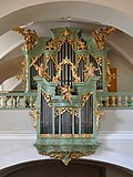
[[[133,67],[132,0],[1,0],[0,4],[0,83],[20,71],[23,38],[11,31],[20,25],[34,29],[40,37],[58,27],[82,28],[86,34],[112,25],[117,30],[106,42]]]

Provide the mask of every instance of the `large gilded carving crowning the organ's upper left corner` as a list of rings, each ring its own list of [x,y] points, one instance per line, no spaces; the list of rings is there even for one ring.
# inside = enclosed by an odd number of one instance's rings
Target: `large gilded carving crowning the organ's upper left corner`
[[[38,35],[37,32],[33,30],[31,31],[30,29],[25,30],[23,28],[14,28],[12,31],[18,31],[24,37],[25,43],[23,45],[24,50],[32,50],[37,45],[37,40]]]

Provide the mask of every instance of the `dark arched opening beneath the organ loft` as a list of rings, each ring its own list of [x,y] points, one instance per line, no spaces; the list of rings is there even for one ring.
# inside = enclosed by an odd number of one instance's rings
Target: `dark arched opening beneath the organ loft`
[[[111,175],[111,176],[110,176]],[[76,159],[65,166],[47,159],[19,164],[0,170],[0,177],[133,177],[133,171],[106,163]]]

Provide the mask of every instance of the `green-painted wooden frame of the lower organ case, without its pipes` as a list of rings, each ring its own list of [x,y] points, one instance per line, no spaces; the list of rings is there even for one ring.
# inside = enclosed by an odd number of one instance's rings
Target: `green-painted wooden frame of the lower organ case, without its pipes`
[[[38,83],[38,107],[39,107],[39,121],[38,121],[38,139],[35,143],[35,147],[38,148],[40,154],[51,154],[54,152],[62,152],[63,156],[68,156],[68,153],[78,153],[82,152],[83,154],[92,154],[95,152],[96,147],[99,146],[99,143],[96,142],[96,124],[95,124],[95,116],[93,114],[93,134],[85,137],[85,135],[82,134],[74,134],[79,137],[68,137],[68,135],[62,134],[51,134],[52,137],[41,137],[40,133],[40,116],[41,116],[41,93],[47,93],[52,96],[52,111],[54,116],[54,108],[61,108],[61,107],[78,107],[79,112],[82,107],[82,95],[88,94],[90,92],[93,93],[93,96],[95,96],[96,91],[96,81],[98,77],[90,79],[88,82],[82,83],[75,83],[78,95],[72,95],[72,104],[69,101],[62,100],[61,95],[55,95],[55,86],[58,86],[58,83],[49,83],[43,77],[34,77],[35,82]],[[93,98],[95,100],[95,97]],[[94,106],[94,105],[93,105]],[[80,118],[80,117],[79,117]],[[53,117],[53,121],[55,117]],[[54,132],[54,129],[53,129]],[[57,137],[58,135],[58,137]],[[66,157],[64,157],[66,158]],[[64,160],[64,159],[62,159]]]

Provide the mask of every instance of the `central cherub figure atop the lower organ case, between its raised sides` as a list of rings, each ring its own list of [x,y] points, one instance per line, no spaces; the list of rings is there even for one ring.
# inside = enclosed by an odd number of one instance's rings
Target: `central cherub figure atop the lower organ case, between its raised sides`
[[[64,86],[61,86],[61,94],[63,95],[63,100],[66,100],[66,101],[69,101],[71,104],[72,104],[72,100],[71,100],[71,97],[72,97],[72,90],[71,90],[71,87],[70,87],[70,85],[64,85]]]

